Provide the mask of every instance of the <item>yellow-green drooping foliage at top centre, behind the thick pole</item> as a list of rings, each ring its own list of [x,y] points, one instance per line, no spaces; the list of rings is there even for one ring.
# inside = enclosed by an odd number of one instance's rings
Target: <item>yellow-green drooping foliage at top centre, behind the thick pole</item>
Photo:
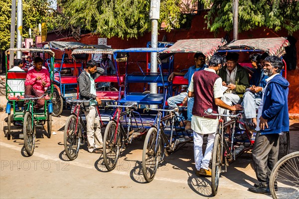
[[[160,19],[166,30],[178,28],[181,0],[161,0]],[[151,27],[150,0],[61,0],[67,23],[60,25],[87,29],[106,37],[137,38]]]

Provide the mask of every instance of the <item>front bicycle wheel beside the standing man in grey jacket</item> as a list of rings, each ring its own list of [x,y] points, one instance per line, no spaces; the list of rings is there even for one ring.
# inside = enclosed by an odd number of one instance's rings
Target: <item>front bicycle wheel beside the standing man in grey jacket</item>
[[[64,133],[63,133],[63,142],[64,142],[64,150],[66,156],[70,160],[74,160],[78,156],[78,152],[80,149],[80,139],[79,131],[81,130],[80,122],[77,124],[77,116],[70,115],[67,120],[64,127]]]

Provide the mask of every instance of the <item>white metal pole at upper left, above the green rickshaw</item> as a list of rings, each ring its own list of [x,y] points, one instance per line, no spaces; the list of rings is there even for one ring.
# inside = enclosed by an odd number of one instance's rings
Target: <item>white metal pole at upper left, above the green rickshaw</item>
[[[22,0],[17,0],[16,11],[16,48],[22,47],[22,32],[23,32],[23,3]],[[21,59],[22,52],[16,52],[16,59]]]

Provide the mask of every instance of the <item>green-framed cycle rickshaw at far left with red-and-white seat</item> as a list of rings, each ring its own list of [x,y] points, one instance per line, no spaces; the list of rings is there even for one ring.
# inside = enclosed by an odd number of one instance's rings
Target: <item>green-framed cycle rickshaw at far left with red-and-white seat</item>
[[[32,98],[24,96],[24,82],[26,79],[26,72],[15,72],[9,71],[6,62],[6,99],[8,100],[5,112],[7,113],[7,132],[6,137],[9,140],[11,136],[11,124],[19,125],[23,127],[23,138],[24,146],[27,154],[31,156],[34,152],[35,146],[35,128],[44,125],[47,131],[47,137],[51,137],[52,128],[52,103],[51,99],[53,96],[53,62],[54,62],[54,52],[51,50],[43,49],[25,49],[25,48],[12,48],[5,52],[7,58],[7,52],[11,53],[20,52],[40,52],[43,53],[44,58],[48,58],[49,64],[49,75],[50,75],[50,87],[47,88],[45,94],[39,98]],[[34,108],[34,100],[43,99],[45,100],[44,108],[36,110]],[[18,102],[23,102],[28,100],[23,110],[17,110],[15,104]],[[12,108],[12,112],[11,112]]]

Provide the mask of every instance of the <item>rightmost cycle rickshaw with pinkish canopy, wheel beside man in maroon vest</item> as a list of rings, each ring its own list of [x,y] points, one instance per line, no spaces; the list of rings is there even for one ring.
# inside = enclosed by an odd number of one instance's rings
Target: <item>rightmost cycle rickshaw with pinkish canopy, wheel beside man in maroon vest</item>
[[[261,53],[267,52],[269,55],[281,57],[285,54],[285,47],[289,46],[289,41],[284,37],[277,38],[259,38],[243,39],[232,41],[218,49],[218,53],[237,52],[237,53]],[[285,63],[285,62],[284,62]],[[240,63],[246,66],[246,63]],[[287,68],[283,76],[286,77]],[[212,114],[207,111],[207,114]],[[218,116],[218,128],[216,131],[214,146],[212,150],[211,169],[212,169],[212,195],[215,196],[218,191],[220,173],[226,172],[226,167],[243,152],[251,150],[254,145],[255,129],[251,128],[245,122],[241,121],[242,114],[225,115],[213,114]],[[230,121],[224,122],[223,117],[230,116]],[[228,130],[232,129],[232,130]],[[252,131],[252,133],[250,133]],[[253,136],[252,136],[253,134]],[[245,147],[243,147],[245,146]],[[290,135],[289,132],[282,132],[280,135],[279,157],[289,153]]]

